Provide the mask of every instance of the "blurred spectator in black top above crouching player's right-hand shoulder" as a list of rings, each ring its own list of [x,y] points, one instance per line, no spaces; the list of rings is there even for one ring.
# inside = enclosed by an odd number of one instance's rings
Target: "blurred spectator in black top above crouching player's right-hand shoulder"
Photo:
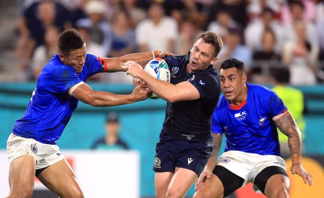
[[[281,56],[274,50],[276,37],[272,29],[265,29],[262,34],[262,50],[253,53],[253,65],[249,81],[266,84],[269,69],[281,63]]]

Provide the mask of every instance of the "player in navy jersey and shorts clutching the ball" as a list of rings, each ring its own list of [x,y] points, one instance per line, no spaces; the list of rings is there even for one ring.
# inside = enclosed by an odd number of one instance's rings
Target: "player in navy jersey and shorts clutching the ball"
[[[184,197],[212,155],[211,117],[220,96],[213,64],[222,47],[217,34],[204,32],[187,55],[167,56],[171,83],[156,80],[134,61],[125,65],[168,102],[153,165],[157,198]]]

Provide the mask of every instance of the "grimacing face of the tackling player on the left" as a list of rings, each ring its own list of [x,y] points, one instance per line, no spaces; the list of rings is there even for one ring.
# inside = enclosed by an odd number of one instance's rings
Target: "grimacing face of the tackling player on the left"
[[[87,48],[84,45],[81,49],[73,50],[68,56],[60,54],[64,65],[73,67],[75,73],[80,73],[85,65]]]

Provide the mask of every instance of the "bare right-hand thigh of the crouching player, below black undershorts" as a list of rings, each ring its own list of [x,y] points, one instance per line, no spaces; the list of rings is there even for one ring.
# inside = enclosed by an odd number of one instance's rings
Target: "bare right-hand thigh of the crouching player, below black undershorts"
[[[288,197],[289,189],[289,178],[282,174],[276,174],[268,179],[264,193],[267,197]]]

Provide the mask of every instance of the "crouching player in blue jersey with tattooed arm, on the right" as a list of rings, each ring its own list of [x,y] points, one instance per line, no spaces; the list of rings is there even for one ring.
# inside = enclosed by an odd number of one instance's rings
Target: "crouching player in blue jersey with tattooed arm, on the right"
[[[197,180],[194,197],[225,197],[249,182],[267,197],[289,197],[277,128],[288,136],[292,174],[312,185],[312,175],[302,167],[301,133],[275,92],[246,83],[244,63],[237,59],[222,62],[220,81],[224,94],[212,117],[213,156]],[[223,134],[225,152],[217,161]]]

